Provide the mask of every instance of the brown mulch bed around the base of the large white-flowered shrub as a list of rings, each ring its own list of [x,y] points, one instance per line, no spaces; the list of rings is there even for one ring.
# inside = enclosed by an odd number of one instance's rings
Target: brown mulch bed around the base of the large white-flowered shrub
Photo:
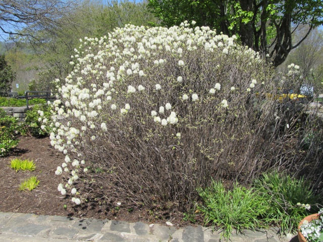
[[[161,224],[171,221],[177,227],[190,223],[184,221],[183,214],[174,209],[150,210],[117,193],[111,194],[109,199],[97,199],[102,198],[102,194],[94,192],[85,204],[75,205],[68,195],[62,196],[57,190],[58,185],[63,183],[63,178],[55,175],[55,171],[64,162],[64,154],[51,147],[48,137],[37,139],[20,136],[18,139],[20,142],[12,153],[7,157],[0,157],[0,187],[3,188],[0,193],[0,212]],[[14,158],[33,160],[36,169],[16,172],[10,167],[10,161]],[[39,186],[33,191],[20,191],[19,185],[32,175],[37,176]],[[117,205],[117,202],[121,205]],[[199,216],[195,219],[202,223]]]

